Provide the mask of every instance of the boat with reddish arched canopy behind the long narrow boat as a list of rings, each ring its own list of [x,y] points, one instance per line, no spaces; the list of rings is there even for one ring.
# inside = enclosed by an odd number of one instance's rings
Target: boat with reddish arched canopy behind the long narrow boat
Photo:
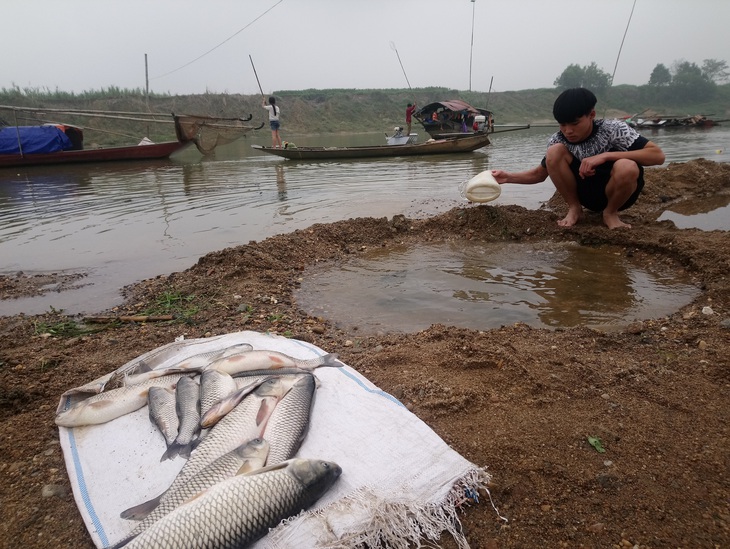
[[[491,111],[472,107],[460,99],[436,101],[417,110],[413,117],[434,139],[491,133]]]

